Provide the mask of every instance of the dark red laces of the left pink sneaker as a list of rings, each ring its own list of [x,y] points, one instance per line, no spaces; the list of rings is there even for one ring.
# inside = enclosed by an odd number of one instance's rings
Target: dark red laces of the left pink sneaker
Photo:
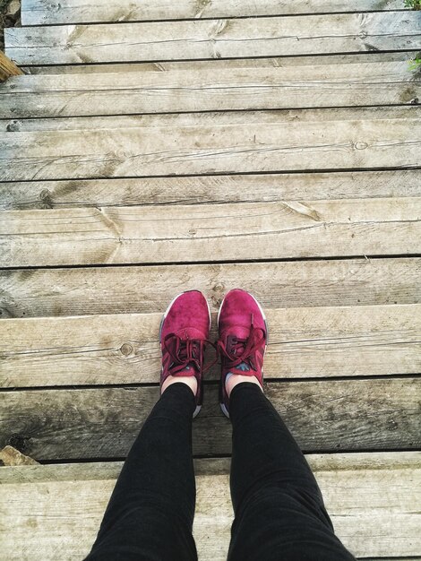
[[[176,333],[168,333],[164,339],[164,349],[171,361],[164,368],[165,375],[176,375],[193,365],[197,371],[206,373],[218,361],[218,356],[210,365],[203,367],[203,353],[207,345],[216,350],[214,343],[208,339],[190,339],[187,335],[181,338]]]

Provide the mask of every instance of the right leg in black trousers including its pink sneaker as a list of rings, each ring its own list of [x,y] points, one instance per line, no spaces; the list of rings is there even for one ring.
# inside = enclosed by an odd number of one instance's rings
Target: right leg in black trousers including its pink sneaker
[[[262,308],[232,290],[219,311],[220,399],[233,424],[229,561],[352,561],[293,436],[262,393]]]

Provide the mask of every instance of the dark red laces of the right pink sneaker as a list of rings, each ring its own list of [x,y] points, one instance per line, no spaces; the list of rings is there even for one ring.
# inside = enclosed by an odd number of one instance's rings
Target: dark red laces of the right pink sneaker
[[[228,337],[227,344],[219,340],[217,350],[221,359],[224,359],[225,366],[235,368],[245,362],[254,371],[257,370],[257,350],[262,347],[265,341],[265,333],[260,327],[254,327],[252,314],[252,327],[250,335],[246,339],[239,337]]]

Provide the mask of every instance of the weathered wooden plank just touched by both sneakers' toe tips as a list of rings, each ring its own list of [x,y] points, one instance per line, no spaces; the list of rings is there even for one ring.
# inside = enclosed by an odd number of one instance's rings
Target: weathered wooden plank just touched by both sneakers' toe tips
[[[213,311],[238,286],[263,306],[421,303],[421,259],[90,267],[0,271],[0,317],[164,313],[184,289]]]

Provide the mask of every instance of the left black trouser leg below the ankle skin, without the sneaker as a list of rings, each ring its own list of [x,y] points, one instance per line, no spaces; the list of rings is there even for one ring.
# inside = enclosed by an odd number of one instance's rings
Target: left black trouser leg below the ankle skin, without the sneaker
[[[86,561],[196,560],[195,484],[186,384],[162,394],[127,456]]]

